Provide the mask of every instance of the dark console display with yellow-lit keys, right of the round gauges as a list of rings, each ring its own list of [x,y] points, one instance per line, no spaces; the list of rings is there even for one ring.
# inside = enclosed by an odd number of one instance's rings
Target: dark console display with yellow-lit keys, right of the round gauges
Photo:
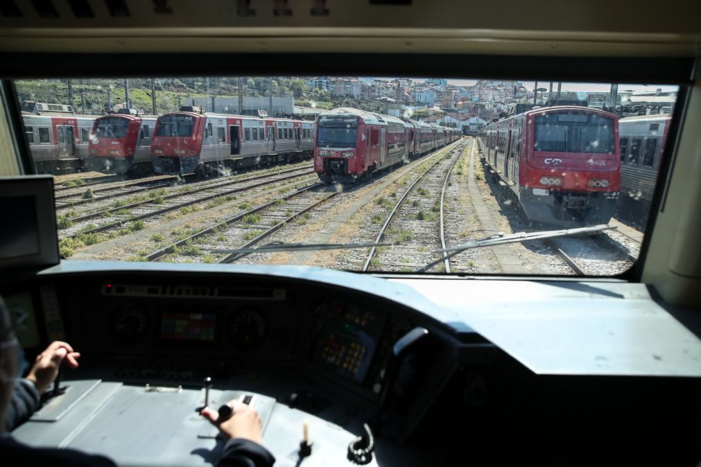
[[[315,360],[362,382],[375,354],[381,321],[367,311],[337,308],[325,323]]]

